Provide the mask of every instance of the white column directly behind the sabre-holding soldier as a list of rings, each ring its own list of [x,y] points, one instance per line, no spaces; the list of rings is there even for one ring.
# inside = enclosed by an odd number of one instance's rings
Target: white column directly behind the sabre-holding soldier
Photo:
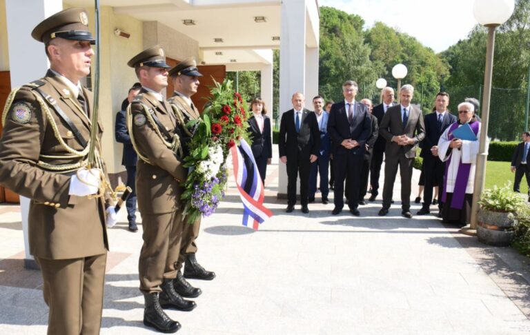
[[[63,8],[61,0],[6,0],[6,21],[8,26],[8,46],[11,88],[16,88],[46,74],[49,63],[44,44],[31,37],[31,31],[39,22]],[[29,7],[28,7],[29,6]],[[35,268],[37,265],[30,255],[28,243],[28,212],[30,201],[20,197],[20,212],[24,234],[26,258],[24,265]]]

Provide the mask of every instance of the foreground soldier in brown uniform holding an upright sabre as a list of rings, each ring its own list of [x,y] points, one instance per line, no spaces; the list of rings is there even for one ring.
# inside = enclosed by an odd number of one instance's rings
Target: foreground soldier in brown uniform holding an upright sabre
[[[35,27],[32,37],[45,43],[50,70],[11,92],[2,119],[0,183],[31,199],[30,253],[41,267],[53,335],[99,334],[106,207],[114,214],[109,197],[91,196],[105,184],[99,143],[101,163],[86,169],[92,92],[79,80],[90,73],[95,43],[87,25],[86,11],[70,8]]]

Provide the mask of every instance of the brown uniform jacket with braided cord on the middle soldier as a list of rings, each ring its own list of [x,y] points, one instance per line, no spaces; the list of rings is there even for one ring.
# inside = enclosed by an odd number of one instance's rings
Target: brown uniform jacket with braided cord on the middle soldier
[[[164,130],[150,121],[154,116]],[[177,210],[186,179],[187,169],[179,150],[168,148],[173,137],[181,137],[175,113],[167,101],[158,101],[143,88],[130,103],[128,127],[131,140],[138,153],[136,193],[138,209],[142,214],[164,214]],[[169,136],[167,136],[169,135]]]

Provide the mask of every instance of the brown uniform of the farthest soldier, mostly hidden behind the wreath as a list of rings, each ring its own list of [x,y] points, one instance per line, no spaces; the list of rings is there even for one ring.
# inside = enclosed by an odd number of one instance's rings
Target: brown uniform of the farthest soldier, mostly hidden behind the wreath
[[[190,120],[199,119],[199,110],[195,108],[195,105],[191,108],[188,102],[179,94],[175,93],[168,102],[181,111],[181,114],[184,116],[184,122],[188,123]],[[189,140],[190,138],[186,138],[185,136],[183,145],[187,145]],[[199,236],[199,231],[201,230],[201,218],[199,217],[193,225],[190,225],[184,218],[183,225],[180,253],[177,259],[177,264],[175,265],[177,270],[180,270],[182,264],[186,261],[185,254],[195,254],[195,252],[197,252],[197,243],[195,243],[195,240]]]

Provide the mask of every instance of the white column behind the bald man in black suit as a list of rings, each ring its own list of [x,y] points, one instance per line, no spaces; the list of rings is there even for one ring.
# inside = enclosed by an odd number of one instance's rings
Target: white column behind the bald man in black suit
[[[291,97],[306,89],[306,1],[282,1],[279,43],[279,119],[293,108]],[[311,98],[310,98],[311,99]],[[308,99],[306,97],[306,104]],[[279,160],[278,160],[279,161]],[[286,165],[279,162],[278,198],[287,195]]]

